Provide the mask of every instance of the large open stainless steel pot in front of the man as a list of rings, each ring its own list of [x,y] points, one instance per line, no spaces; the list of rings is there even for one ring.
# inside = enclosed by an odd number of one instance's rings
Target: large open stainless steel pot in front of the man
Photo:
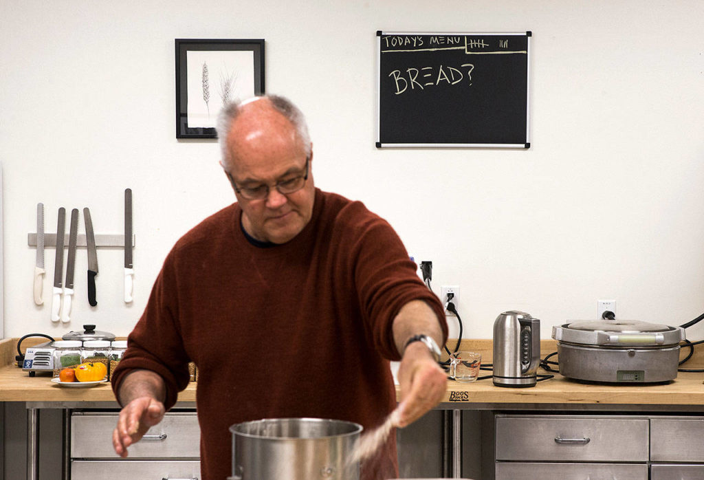
[[[234,424],[229,480],[358,480],[349,463],[362,426],[342,420],[274,418]]]

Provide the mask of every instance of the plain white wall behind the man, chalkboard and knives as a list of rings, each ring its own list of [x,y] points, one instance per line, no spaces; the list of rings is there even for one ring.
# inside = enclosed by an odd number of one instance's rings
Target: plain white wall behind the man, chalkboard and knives
[[[266,39],[266,89],[307,113],[316,184],[386,217],[436,292],[460,285],[465,336],[520,309],[548,338],[598,298],[649,322],[704,310],[700,0],[4,0],[0,18],[5,336],[127,334],[173,242],[233,201],[217,145],[175,139],[175,38]],[[532,147],[375,149],[377,30],[532,30]],[[37,202],[47,232],[58,207],[88,206],[97,233],[121,233],[125,187],[134,304],[108,249],[90,308],[80,250],[74,320],[51,324],[32,301]],[[46,265],[49,298],[53,249]]]

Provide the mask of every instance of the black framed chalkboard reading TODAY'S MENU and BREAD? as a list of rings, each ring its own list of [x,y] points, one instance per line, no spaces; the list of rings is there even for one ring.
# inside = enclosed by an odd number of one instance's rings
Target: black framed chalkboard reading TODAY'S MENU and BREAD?
[[[528,148],[531,32],[377,32],[377,147]]]

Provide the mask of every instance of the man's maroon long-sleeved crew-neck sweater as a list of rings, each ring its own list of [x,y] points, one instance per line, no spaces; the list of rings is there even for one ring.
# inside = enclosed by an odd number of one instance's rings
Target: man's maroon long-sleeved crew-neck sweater
[[[146,368],[166,408],[198,367],[201,474],[232,474],[232,424],[261,418],[344,419],[372,429],[396,406],[389,360],[401,307],[439,300],[417,277],[394,229],[360,202],[316,189],[313,216],[287,244],[261,248],[237,203],[208,217],[168,254],[113,374]],[[392,435],[362,478],[398,476]]]

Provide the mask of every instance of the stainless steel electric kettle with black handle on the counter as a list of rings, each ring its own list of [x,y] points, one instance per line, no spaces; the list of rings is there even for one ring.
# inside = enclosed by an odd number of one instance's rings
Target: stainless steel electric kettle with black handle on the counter
[[[540,363],[540,320],[510,310],[494,322],[494,385],[535,386]]]

